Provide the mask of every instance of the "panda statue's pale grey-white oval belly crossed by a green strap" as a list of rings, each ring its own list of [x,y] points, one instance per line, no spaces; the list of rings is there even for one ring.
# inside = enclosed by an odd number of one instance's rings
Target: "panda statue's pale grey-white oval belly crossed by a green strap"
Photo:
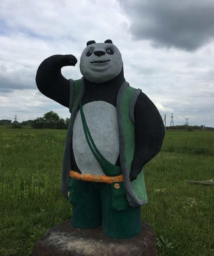
[[[89,102],[83,106],[83,112],[100,153],[115,164],[119,156],[119,130],[116,108],[105,101]],[[105,175],[97,159],[95,159],[85,138],[80,111],[73,128],[74,158],[81,173]]]

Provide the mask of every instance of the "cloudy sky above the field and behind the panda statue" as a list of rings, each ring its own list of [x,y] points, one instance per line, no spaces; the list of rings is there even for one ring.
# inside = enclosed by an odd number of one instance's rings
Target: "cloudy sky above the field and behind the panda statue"
[[[38,66],[72,54],[78,63],[62,74],[80,79],[86,43],[111,39],[126,81],[166,114],[167,126],[173,113],[174,125],[214,127],[213,13],[213,0],[0,0],[0,119],[69,117],[38,91]]]

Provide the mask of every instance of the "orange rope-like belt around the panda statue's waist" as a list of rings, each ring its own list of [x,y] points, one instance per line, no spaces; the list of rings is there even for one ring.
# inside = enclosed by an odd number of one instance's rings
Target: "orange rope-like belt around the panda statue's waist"
[[[104,182],[104,183],[113,183],[113,182],[123,182],[123,175],[117,176],[105,176],[105,175],[93,175],[93,174],[81,174],[75,171],[70,171],[70,177],[77,180],[84,180],[90,182]]]

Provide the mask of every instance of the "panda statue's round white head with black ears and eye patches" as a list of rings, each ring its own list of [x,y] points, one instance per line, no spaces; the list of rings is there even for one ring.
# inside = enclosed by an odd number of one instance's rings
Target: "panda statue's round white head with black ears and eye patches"
[[[111,40],[104,43],[87,42],[80,58],[80,72],[85,79],[104,83],[118,76],[122,68],[120,51]]]

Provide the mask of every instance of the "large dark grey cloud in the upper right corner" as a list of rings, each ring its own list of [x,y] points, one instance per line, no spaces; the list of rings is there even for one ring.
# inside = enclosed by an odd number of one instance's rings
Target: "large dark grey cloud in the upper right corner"
[[[119,0],[133,39],[194,51],[214,36],[213,0]]]

